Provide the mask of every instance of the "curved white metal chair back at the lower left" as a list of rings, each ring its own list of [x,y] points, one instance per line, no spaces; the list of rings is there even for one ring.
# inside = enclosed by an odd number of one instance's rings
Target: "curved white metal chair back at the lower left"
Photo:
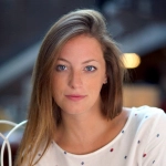
[[[19,124],[10,122],[10,121],[4,121],[4,120],[0,120],[0,124],[7,124],[7,125],[11,125],[13,126],[13,128],[4,136],[2,133],[0,133],[0,137],[2,137],[3,143],[1,146],[1,152],[0,152],[0,165],[3,166],[4,165],[4,147],[7,146],[8,148],[8,159],[9,159],[9,166],[12,166],[12,155],[11,155],[11,145],[9,142],[9,137],[13,134],[13,132],[15,132],[19,127],[23,126],[27,123],[27,121],[23,121]]]

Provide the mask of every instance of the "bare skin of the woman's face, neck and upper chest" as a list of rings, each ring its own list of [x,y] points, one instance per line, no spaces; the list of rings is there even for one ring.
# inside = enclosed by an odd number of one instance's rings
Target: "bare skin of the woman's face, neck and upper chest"
[[[81,34],[62,48],[54,65],[52,95],[62,114],[54,141],[64,151],[94,152],[115,138],[126,123],[125,111],[113,121],[102,114],[100,92],[106,83],[105,72],[96,39]]]

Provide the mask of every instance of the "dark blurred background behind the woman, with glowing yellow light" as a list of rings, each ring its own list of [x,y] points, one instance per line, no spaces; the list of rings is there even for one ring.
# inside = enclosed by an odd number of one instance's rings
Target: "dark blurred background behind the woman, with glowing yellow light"
[[[0,120],[27,118],[41,41],[60,15],[77,8],[101,11],[126,55],[131,81],[124,84],[124,106],[166,111],[165,0],[0,0]]]

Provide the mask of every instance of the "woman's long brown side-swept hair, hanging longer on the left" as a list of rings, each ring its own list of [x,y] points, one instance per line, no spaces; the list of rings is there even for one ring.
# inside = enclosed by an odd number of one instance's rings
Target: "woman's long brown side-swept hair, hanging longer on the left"
[[[34,165],[37,153],[48,148],[59,123],[60,108],[52,98],[51,75],[56,54],[71,38],[80,34],[95,38],[103,48],[107,83],[101,90],[103,114],[113,120],[122,112],[122,84],[124,68],[115,42],[106,29],[105,19],[94,10],[72,11],[58,20],[46,33],[33,71],[28,124],[15,162],[17,166]]]

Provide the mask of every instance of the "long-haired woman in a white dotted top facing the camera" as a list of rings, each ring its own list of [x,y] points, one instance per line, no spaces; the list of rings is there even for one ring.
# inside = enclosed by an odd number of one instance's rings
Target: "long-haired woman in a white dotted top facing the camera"
[[[166,164],[166,115],[122,106],[120,55],[97,11],[70,12],[51,28],[37,60],[15,165]]]

